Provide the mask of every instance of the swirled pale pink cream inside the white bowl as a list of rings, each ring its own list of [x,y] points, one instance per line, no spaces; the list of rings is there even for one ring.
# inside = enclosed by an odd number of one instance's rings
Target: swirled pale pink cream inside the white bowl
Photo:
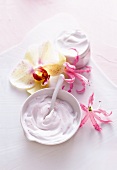
[[[27,136],[44,144],[64,141],[78,126],[77,112],[66,101],[57,99],[54,110],[49,112],[51,97],[33,98],[27,105],[22,124]]]

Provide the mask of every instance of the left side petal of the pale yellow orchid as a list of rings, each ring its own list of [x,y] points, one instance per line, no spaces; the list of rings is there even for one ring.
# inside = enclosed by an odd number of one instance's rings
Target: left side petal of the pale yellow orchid
[[[32,88],[35,85],[32,72],[33,68],[30,63],[23,60],[11,73],[9,78],[11,84],[20,89]]]

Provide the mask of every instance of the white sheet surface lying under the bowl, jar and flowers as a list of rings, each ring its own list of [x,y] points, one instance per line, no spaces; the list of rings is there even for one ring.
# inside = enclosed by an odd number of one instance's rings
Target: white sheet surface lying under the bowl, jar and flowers
[[[69,141],[55,146],[29,142],[20,124],[21,106],[28,94],[10,85],[10,72],[23,58],[29,45],[53,40],[63,29],[77,27],[71,16],[55,16],[33,29],[20,45],[0,55],[0,170],[117,169],[117,87],[93,59],[89,63],[92,67],[91,86],[84,94],[78,95],[75,91],[73,94],[79,102],[87,105],[94,92],[94,107],[101,100],[101,107],[113,112],[111,124],[102,124],[102,132],[97,132],[88,121]]]

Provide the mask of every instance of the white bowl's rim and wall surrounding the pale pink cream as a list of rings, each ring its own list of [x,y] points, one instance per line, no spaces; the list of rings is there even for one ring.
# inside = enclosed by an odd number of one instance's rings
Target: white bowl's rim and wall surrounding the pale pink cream
[[[36,98],[38,98],[39,96],[48,95],[51,97],[53,94],[53,91],[54,91],[53,88],[45,88],[45,89],[39,90],[39,91],[35,92],[33,95],[29,96],[22,106],[21,124],[22,124],[23,130],[24,130],[24,133],[25,133],[27,139],[29,139],[30,141],[35,141],[35,142],[38,142],[41,144],[46,144],[46,145],[60,144],[62,142],[67,141],[68,139],[70,139],[77,132],[77,130],[79,128],[79,125],[81,122],[81,108],[80,108],[79,102],[71,93],[68,93],[65,90],[59,90],[57,98],[69,103],[75,113],[75,121],[73,121],[73,123],[69,126],[72,130],[69,130],[70,132],[69,133],[67,132],[67,134],[60,133],[59,137],[58,137],[58,134],[56,134],[56,133],[55,133],[54,137],[51,135],[49,136],[49,133],[51,132],[50,130],[48,131],[48,133],[47,133],[47,131],[46,132],[44,131],[43,133],[41,133],[41,136],[40,136],[40,133],[38,134],[38,129],[36,126],[36,136],[34,135],[34,133],[32,133],[32,131],[29,128],[29,125],[27,125],[29,122],[27,123],[27,120],[26,120],[27,107],[29,107],[31,105],[31,102],[33,100],[35,100]],[[39,116],[39,114],[38,114],[38,116]],[[30,115],[28,115],[28,118],[30,118]],[[69,119],[69,116],[68,116],[68,119]],[[62,123],[64,123],[64,122],[65,121],[62,119]],[[52,121],[51,123],[54,123],[54,121]],[[64,126],[66,126],[66,123],[64,123]],[[32,126],[31,126],[31,129],[32,129]],[[47,138],[45,138],[45,133],[47,134]]]

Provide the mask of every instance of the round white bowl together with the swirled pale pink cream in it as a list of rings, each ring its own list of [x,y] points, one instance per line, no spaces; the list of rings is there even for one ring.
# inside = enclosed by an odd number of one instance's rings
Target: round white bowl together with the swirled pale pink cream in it
[[[31,141],[46,145],[59,144],[70,139],[79,128],[80,105],[67,91],[59,91],[54,111],[49,113],[53,90],[42,89],[23,104],[21,124],[26,137]]]

